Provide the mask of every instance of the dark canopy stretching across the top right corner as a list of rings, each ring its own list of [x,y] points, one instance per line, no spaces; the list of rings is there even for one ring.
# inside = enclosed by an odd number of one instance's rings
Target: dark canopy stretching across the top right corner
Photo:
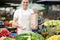
[[[48,4],[48,5],[60,5],[60,0],[38,0],[36,1],[38,4]]]

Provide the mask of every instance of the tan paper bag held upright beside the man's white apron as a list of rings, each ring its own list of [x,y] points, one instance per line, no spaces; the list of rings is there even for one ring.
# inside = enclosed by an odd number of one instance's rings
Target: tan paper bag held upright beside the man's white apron
[[[30,27],[35,30],[38,28],[38,17],[36,14],[32,14],[31,18],[30,18],[31,22],[30,22]]]

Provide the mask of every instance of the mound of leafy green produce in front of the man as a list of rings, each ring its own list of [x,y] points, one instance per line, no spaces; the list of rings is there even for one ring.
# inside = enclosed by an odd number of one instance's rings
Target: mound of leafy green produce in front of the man
[[[24,33],[18,35],[16,40],[44,40],[44,38],[37,33]]]

